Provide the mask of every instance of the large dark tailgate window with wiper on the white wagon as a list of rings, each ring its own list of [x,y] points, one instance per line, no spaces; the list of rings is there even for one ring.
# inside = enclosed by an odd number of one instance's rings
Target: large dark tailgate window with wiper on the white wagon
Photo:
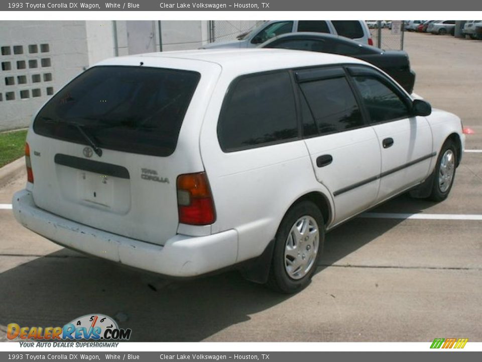
[[[39,112],[37,134],[100,148],[168,156],[200,74],[193,71],[97,66],[86,70]]]

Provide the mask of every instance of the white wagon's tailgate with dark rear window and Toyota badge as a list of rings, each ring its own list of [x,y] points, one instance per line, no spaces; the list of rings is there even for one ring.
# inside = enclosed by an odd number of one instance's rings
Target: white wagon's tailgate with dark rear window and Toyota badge
[[[187,60],[127,61],[137,65],[86,70],[38,113],[28,138],[33,196],[64,218],[163,244],[178,228],[177,176],[203,170],[186,137],[198,141],[219,70],[204,65],[201,79],[201,69],[170,68]]]

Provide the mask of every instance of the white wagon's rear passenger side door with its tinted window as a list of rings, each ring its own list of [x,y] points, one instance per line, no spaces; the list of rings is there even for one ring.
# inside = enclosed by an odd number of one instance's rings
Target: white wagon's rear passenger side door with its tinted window
[[[343,68],[300,70],[296,79],[305,144],[316,178],[333,196],[336,224],[377,198],[377,135],[365,123]]]

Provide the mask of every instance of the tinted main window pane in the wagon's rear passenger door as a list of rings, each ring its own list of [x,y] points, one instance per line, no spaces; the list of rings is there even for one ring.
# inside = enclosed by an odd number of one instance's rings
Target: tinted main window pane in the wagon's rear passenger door
[[[346,78],[310,81],[300,86],[320,134],[364,125],[362,113]]]

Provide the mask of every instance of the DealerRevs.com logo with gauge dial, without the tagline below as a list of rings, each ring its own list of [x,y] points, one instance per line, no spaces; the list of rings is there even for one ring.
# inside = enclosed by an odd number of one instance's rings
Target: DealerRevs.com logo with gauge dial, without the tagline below
[[[17,323],[7,325],[7,338],[10,340],[129,340],[131,332],[129,328],[119,328],[117,322],[103,314],[87,314],[63,327],[21,327]]]

